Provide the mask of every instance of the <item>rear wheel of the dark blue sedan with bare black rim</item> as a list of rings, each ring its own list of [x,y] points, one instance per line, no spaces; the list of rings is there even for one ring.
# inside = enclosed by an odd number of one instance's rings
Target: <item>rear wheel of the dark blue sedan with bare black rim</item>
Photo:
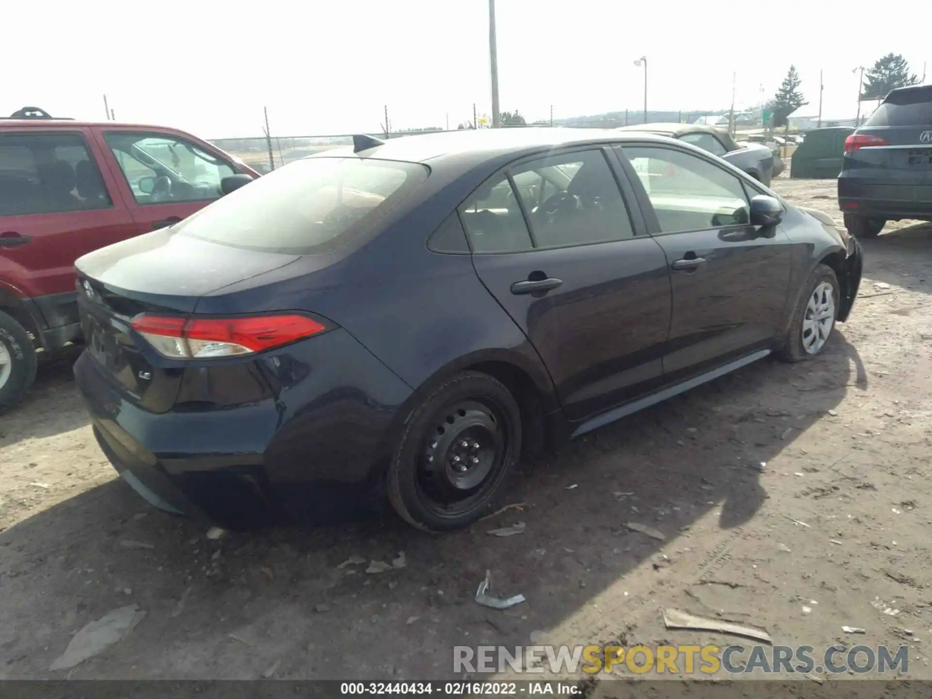
[[[391,459],[389,500],[427,531],[464,527],[499,496],[521,453],[521,412],[497,379],[464,371],[409,416]]]

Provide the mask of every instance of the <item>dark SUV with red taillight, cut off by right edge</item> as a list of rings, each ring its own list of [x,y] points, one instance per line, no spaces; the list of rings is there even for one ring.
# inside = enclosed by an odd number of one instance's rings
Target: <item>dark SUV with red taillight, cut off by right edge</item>
[[[858,238],[887,221],[932,221],[932,85],[891,90],[847,137],[838,205]]]

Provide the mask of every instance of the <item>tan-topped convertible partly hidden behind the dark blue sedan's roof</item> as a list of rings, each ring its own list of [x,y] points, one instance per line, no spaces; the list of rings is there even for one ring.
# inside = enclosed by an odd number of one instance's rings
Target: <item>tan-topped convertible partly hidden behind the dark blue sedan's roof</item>
[[[732,163],[758,182],[770,186],[771,180],[783,171],[783,161],[766,144],[738,144],[726,130],[701,124],[637,124],[623,126],[620,131],[647,131],[696,145],[713,156]]]

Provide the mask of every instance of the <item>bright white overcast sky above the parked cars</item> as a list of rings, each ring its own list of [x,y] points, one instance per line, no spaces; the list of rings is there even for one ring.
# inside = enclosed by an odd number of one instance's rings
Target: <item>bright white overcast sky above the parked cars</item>
[[[500,105],[528,120],[639,109],[648,57],[651,109],[727,108],[770,97],[794,63],[814,114],[853,117],[857,77],[884,53],[923,74],[925,11],[887,0],[777,4],[706,0],[497,0]],[[158,123],[205,138],[456,128],[489,113],[487,0],[160,0],[9,2],[0,114]],[[906,22],[904,24],[904,22]],[[857,25],[857,38],[852,27]],[[929,78],[932,80],[932,77]],[[763,92],[761,93],[761,88]]]

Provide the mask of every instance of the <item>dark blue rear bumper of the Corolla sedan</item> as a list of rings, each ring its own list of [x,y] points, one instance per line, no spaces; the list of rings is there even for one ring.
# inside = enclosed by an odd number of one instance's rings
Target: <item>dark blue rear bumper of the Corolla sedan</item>
[[[88,351],[75,363],[75,379],[103,453],[161,510],[227,528],[376,512],[382,473],[375,467],[411,390],[344,330],[283,351],[249,361],[277,362],[297,380],[275,397],[220,409],[146,411]],[[186,371],[205,386],[223,377]]]

